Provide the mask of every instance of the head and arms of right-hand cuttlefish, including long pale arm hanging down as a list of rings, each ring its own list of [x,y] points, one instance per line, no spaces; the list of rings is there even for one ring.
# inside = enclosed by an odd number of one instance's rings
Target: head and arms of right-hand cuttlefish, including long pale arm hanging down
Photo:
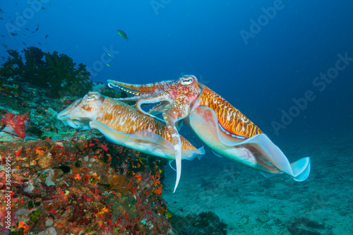
[[[112,80],[109,80],[109,85],[114,85]],[[124,84],[120,83],[120,87],[124,89]],[[119,84],[116,84],[119,86]],[[136,86],[136,85],[135,85]],[[157,88],[158,86],[158,88]],[[142,96],[124,98],[122,100],[138,100],[136,102],[137,109],[151,116],[157,118],[153,114],[162,112],[163,119],[167,123],[169,133],[172,134],[172,143],[175,150],[175,162],[177,166],[177,183],[174,188],[174,192],[177,189],[177,185],[181,176],[181,140],[177,129],[178,122],[187,115],[189,115],[191,104],[198,97],[201,89],[198,87],[198,80],[194,76],[188,76],[179,78],[176,82],[163,81],[161,83],[152,83],[147,85],[139,85],[140,91],[145,92]],[[133,88],[133,87],[128,87]],[[152,90],[151,90],[152,89]],[[126,90],[128,92],[128,90]],[[138,93],[134,92],[134,95]],[[141,109],[143,104],[159,103],[150,112],[144,112]]]

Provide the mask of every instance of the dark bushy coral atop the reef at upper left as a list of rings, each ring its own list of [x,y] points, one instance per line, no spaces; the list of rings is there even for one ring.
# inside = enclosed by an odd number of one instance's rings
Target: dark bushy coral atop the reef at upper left
[[[44,88],[49,97],[85,95],[92,88],[90,73],[85,65],[76,66],[66,54],[44,53],[37,47],[24,49],[24,58],[14,50],[7,52],[9,56],[0,68],[0,76]]]

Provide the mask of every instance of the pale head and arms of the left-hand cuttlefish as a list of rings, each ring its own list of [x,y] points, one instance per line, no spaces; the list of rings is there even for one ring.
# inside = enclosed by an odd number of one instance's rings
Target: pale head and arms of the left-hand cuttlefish
[[[73,102],[56,117],[68,126],[88,130],[90,129],[90,121],[97,114],[103,102],[104,97],[100,92],[88,92],[82,99]]]

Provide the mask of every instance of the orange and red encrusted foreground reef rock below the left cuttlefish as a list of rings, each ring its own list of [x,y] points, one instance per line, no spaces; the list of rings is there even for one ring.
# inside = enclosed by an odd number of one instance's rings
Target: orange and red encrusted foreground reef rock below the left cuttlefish
[[[1,166],[11,159],[10,234],[25,226],[34,234],[172,234],[160,192],[165,162],[104,143],[96,134],[1,145]],[[5,171],[0,174],[5,195]],[[4,234],[5,217],[0,218]]]

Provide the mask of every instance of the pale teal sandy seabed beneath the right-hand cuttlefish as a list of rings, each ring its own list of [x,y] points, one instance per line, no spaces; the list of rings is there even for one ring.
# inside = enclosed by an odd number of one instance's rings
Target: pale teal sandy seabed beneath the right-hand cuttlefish
[[[215,212],[230,235],[291,234],[291,226],[312,234],[353,234],[352,137],[281,144],[290,162],[311,156],[304,182],[285,174],[266,179],[207,151],[200,161],[182,162],[175,193],[175,171],[168,169],[164,199],[177,215]]]

